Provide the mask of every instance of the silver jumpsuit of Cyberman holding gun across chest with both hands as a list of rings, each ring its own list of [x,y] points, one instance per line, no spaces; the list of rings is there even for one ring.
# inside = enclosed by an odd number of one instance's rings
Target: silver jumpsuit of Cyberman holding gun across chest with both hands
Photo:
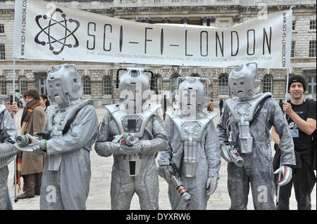
[[[113,154],[113,169],[111,173],[111,209],[127,210],[133,195],[139,196],[141,209],[159,209],[159,178],[156,173],[156,152],[163,150],[167,144],[166,131],[163,128],[161,118],[153,115],[147,123],[147,129],[151,131],[154,139],[151,140],[151,150],[141,153],[142,166],[138,176],[129,176],[125,170],[124,154]],[[116,122],[108,113],[101,124],[100,133],[94,149],[101,157],[112,155],[112,136],[118,136],[120,132]],[[144,132],[139,140],[150,140],[151,136]]]

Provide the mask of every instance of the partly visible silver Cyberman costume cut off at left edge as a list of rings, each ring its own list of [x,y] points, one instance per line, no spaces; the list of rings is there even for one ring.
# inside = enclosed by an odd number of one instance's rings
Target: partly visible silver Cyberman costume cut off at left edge
[[[6,106],[0,105],[0,210],[7,209],[8,164],[18,153],[12,145],[17,132]]]

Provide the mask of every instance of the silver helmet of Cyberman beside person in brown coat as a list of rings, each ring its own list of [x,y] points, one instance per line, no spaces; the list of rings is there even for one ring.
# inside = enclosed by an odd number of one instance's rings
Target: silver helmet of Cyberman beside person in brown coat
[[[82,96],[82,79],[76,65],[57,65],[47,72],[46,90],[51,101],[61,107]]]

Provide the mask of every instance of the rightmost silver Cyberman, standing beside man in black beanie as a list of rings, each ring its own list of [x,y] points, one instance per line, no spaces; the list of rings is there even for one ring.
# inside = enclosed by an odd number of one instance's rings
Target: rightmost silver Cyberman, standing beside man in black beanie
[[[275,209],[271,126],[281,140],[283,178],[279,184],[285,185],[292,178],[289,166],[295,164],[294,145],[287,121],[271,93],[259,93],[260,84],[256,63],[236,66],[230,72],[230,90],[236,97],[225,100],[217,127],[220,153],[228,162],[230,209],[247,209],[249,185],[254,209]],[[232,150],[240,154],[243,166],[232,162]]]

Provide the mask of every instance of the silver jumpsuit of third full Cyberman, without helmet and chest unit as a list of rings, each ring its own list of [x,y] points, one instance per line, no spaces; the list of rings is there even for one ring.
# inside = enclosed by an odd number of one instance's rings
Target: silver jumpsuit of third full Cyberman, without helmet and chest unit
[[[204,114],[199,114],[204,117]],[[184,143],[180,141],[180,133],[175,128],[170,117],[164,124],[166,133],[169,136],[168,147],[166,150],[160,152],[159,166],[168,166],[170,162],[174,163],[178,168],[180,167],[180,160],[184,150]],[[201,141],[197,143],[197,175],[194,178],[186,178],[184,169],[182,172],[182,183],[184,184],[189,195],[192,197],[191,202],[185,203],[180,199],[175,187],[168,182],[168,197],[170,205],[175,210],[204,210],[206,209],[209,195],[206,195],[206,183],[210,176],[219,178],[220,169],[220,152],[218,134],[213,121],[210,120],[202,134]]]

